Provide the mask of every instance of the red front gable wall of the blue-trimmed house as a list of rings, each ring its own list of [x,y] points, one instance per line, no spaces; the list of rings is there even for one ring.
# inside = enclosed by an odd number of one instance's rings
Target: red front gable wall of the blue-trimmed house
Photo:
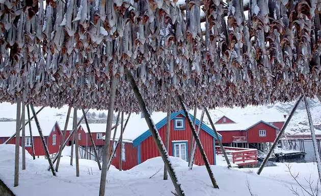
[[[182,115],[178,115],[177,117],[184,117]],[[191,128],[188,124],[188,119],[185,118],[185,130],[174,130],[174,119],[171,120],[171,130],[170,130],[170,145],[169,145],[169,155],[173,156],[172,153],[172,142],[173,140],[188,140],[188,155],[190,154],[190,143],[191,143]],[[165,141],[166,127],[162,127],[158,130],[159,134],[162,137],[163,142]],[[198,127],[196,126],[196,129]],[[213,137],[204,132],[203,130],[200,133],[200,139],[203,144],[203,148],[207,155],[208,161],[211,165],[214,164],[214,152],[213,152]],[[149,136],[146,140],[141,143],[141,163],[146,161],[147,159],[158,157],[159,152],[156,147],[156,144],[152,138]],[[200,152],[197,150],[195,155],[195,164],[204,165],[203,159],[200,155]]]

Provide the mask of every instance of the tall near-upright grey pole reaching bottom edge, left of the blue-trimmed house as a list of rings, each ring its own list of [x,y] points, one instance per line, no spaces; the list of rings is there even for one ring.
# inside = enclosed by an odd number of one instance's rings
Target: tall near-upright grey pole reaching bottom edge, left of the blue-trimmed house
[[[103,145],[103,155],[102,155],[102,168],[101,168],[101,176],[100,176],[100,186],[99,186],[99,196],[105,195],[105,187],[106,187],[106,178],[107,178],[107,164],[109,160],[109,146],[111,143],[111,130],[112,130],[112,122],[114,115],[114,104],[115,104],[115,96],[116,96],[116,76],[111,77],[111,87],[109,94],[109,103],[108,103],[108,115],[107,115],[107,123],[106,123],[106,134],[105,134],[105,144]]]

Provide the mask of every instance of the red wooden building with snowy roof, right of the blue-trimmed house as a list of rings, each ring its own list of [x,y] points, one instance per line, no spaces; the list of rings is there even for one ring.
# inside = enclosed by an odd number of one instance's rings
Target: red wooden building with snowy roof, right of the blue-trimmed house
[[[250,144],[273,142],[284,121],[266,122],[258,120],[254,115],[240,118],[235,122],[226,116],[222,116],[215,123],[215,128],[222,135],[222,143],[227,146],[248,147]]]

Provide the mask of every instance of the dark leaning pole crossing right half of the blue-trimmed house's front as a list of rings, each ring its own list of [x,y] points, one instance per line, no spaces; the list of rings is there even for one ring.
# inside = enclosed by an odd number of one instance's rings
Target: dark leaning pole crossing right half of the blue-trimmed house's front
[[[185,116],[188,118],[189,125],[190,125],[191,130],[192,130],[192,133],[193,133],[193,135],[194,135],[196,144],[198,145],[198,148],[199,148],[200,153],[201,153],[201,155],[202,155],[203,161],[204,161],[204,163],[205,163],[205,166],[206,166],[206,169],[207,169],[209,178],[210,178],[210,180],[211,180],[211,182],[212,182],[212,184],[213,184],[213,187],[214,187],[214,188],[219,188],[219,186],[218,186],[218,184],[217,184],[217,182],[216,182],[216,180],[215,180],[215,178],[214,178],[213,172],[212,172],[212,170],[211,170],[211,168],[210,168],[209,161],[208,161],[207,156],[206,156],[206,154],[205,154],[205,151],[204,151],[204,149],[203,149],[203,145],[202,145],[202,143],[201,143],[201,140],[200,140],[200,138],[198,137],[198,135],[197,135],[197,133],[196,133],[196,130],[195,130],[195,127],[194,127],[194,125],[193,125],[193,122],[192,122],[190,113],[188,112],[188,109],[186,108],[186,106],[185,106],[185,104],[184,104],[184,102],[183,102],[183,99],[182,99],[182,97],[181,97],[180,95],[178,95],[178,99],[179,99],[180,104],[181,104],[181,106],[182,106],[182,108],[183,108],[183,111],[184,111],[184,113],[185,113]],[[206,108],[204,108],[204,109],[206,109]],[[205,112],[206,112],[206,110],[205,110]]]

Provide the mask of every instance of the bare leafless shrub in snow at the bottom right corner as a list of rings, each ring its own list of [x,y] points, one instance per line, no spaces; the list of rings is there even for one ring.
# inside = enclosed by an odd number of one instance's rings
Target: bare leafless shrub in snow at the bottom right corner
[[[314,186],[314,180],[311,179],[311,175],[309,177],[309,179],[304,178],[304,180],[309,184],[309,187],[304,187],[299,181],[298,181],[298,177],[299,177],[299,172],[297,174],[293,174],[291,171],[291,165],[290,163],[285,164],[286,167],[288,168],[288,172],[291,175],[291,177],[293,178],[293,180],[296,181],[296,183],[299,185],[299,188],[294,188],[291,185],[290,190],[292,191],[292,193],[294,195],[297,196],[305,196],[305,195],[310,195],[310,196],[318,196],[318,191],[319,191],[319,183],[318,181],[316,181],[316,186],[313,188]]]

